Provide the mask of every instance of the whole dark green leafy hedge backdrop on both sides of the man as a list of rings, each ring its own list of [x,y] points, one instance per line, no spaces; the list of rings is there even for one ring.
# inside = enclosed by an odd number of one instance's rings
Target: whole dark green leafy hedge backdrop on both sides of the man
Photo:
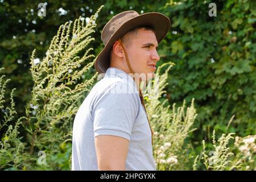
[[[32,50],[36,48],[39,57],[46,56],[61,24],[80,15],[89,17],[105,5],[97,19],[96,40],[91,44],[94,55],[103,47],[102,28],[115,14],[126,10],[157,11],[171,19],[170,33],[159,44],[161,60],[158,65],[168,61],[176,65],[168,75],[167,94],[163,97],[167,97],[171,105],[179,106],[183,100],[189,103],[195,98],[199,115],[193,127],[197,130],[191,133],[189,141],[197,152],[202,149],[202,139],[211,140],[213,129],[216,134],[234,132],[241,137],[256,133],[255,1],[215,1],[217,16],[212,17],[208,15],[208,5],[212,3],[209,0],[49,0],[47,3],[46,17],[39,17],[38,2],[0,2],[0,67],[4,67],[2,72],[11,78],[6,94],[10,95],[11,88],[16,88],[14,101],[18,114],[15,119],[24,115],[24,105],[31,99],[33,82],[29,57]],[[60,14],[61,7],[67,14]],[[94,73],[93,69],[86,73],[84,80]]]

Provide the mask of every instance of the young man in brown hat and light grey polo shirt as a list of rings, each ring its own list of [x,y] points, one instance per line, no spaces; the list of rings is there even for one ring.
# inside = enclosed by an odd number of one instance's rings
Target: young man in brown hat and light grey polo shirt
[[[73,125],[72,170],[155,170],[152,130],[139,83],[154,77],[156,48],[170,29],[160,13],[115,15],[102,30],[95,68],[105,73]]]

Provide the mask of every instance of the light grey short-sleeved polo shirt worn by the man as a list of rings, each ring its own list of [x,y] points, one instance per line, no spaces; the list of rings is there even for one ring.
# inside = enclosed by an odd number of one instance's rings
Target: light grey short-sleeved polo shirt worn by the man
[[[126,72],[109,68],[77,111],[73,124],[72,170],[98,170],[94,137],[129,140],[126,170],[156,170],[151,131],[137,86]]]

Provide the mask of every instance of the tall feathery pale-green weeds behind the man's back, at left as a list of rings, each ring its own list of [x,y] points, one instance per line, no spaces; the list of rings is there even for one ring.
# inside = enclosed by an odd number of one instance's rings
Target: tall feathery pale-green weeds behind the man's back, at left
[[[0,123],[3,133],[1,169],[70,169],[73,118],[81,97],[90,90],[97,77],[95,74],[79,82],[94,65],[94,60],[90,61],[94,55],[89,54],[92,51],[89,44],[94,40],[90,35],[96,27],[100,9],[87,23],[80,17],[73,26],[72,22],[60,26],[42,61],[35,58],[33,51],[30,71],[34,86],[31,101],[25,107],[26,115],[11,125],[16,114],[12,92],[11,108],[6,107]],[[5,87],[9,81],[3,81],[4,77],[0,78],[0,109],[4,107]],[[2,130],[5,126],[8,126],[6,132]],[[26,131],[23,140],[19,137],[20,128]],[[44,164],[39,163],[40,152],[45,155]]]

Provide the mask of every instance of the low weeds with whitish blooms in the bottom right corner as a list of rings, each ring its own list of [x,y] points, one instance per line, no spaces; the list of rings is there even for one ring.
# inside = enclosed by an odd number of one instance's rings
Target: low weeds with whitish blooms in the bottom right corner
[[[228,135],[222,134],[218,139],[218,145],[215,140],[215,131],[213,131],[212,146],[213,150],[205,151],[205,141],[203,140],[202,158],[207,170],[255,170],[256,168],[256,135],[249,135],[244,138],[236,137],[234,145],[229,145],[233,139],[234,133]],[[230,147],[229,147],[230,146]],[[196,170],[197,160],[195,159],[193,169]]]

